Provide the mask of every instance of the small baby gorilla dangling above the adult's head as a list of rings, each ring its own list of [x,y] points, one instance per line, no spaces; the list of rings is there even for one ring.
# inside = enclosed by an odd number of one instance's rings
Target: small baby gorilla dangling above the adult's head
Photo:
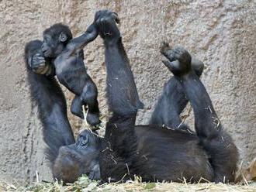
[[[45,60],[52,61],[53,64],[47,64],[45,70],[36,70],[39,74],[55,73],[61,84],[75,94],[71,105],[71,112],[74,115],[85,118],[82,105],[88,105],[86,120],[90,125],[99,124],[98,91],[95,83],[86,73],[82,49],[97,36],[94,25],[89,26],[83,35],[72,39],[71,30],[67,26],[55,24],[43,31],[41,50],[43,55],[37,53],[33,58],[42,65],[49,63]]]

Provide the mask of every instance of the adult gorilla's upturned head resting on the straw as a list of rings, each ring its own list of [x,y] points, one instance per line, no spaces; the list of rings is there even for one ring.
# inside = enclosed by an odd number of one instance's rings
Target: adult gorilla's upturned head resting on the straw
[[[54,163],[54,177],[64,183],[74,183],[82,174],[92,180],[100,179],[99,153],[101,140],[88,130],[78,135],[70,146],[62,146]]]

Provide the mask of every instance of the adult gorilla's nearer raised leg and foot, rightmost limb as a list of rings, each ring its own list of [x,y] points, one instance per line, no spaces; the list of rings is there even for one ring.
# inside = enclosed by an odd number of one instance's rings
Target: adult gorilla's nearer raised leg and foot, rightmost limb
[[[216,182],[234,181],[238,153],[234,142],[216,115],[205,87],[191,67],[191,56],[182,47],[170,49],[163,63],[182,84],[195,115],[195,131],[209,154]]]

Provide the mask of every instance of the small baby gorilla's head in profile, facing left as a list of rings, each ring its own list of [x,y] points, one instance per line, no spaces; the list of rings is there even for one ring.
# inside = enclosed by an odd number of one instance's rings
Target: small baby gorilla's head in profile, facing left
[[[68,26],[61,23],[54,24],[43,31],[42,51],[44,57],[57,57],[67,43],[72,39]]]

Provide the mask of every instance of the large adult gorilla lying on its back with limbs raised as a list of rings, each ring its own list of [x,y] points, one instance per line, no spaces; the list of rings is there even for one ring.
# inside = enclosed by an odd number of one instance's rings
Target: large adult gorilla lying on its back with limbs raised
[[[164,64],[175,77],[164,85],[150,125],[135,125],[137,110],[143,105],[116,18],[112,12],[99,11],[92,24],[105,45],[106,92],[112,111],[103,139],[84,131],[74,142],[61,88],[54,77],[33,73],[33,63],[27,65],[54,177],[68,183],[83,173],[103,181],[130,180],[134,175],[144,181],[179,182],[183,177],[190,181],[234,181],[237,148],[223,130],[199,80],[202,63],[195,62],[182,47],[162,46],[161,53],[168,58]],[[26,46],[26,60],[40,49],[39,44]],[[188,100],[195,113],[195,133],[186,131],[179,118]]]

